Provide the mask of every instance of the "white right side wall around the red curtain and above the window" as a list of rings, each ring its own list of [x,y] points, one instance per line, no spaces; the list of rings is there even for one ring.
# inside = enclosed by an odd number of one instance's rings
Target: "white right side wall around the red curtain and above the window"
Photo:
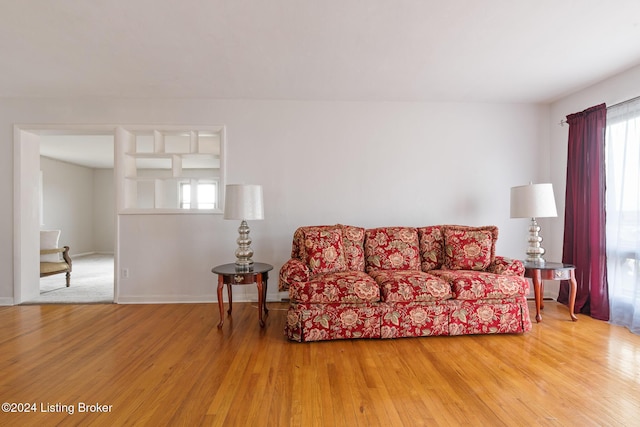
[[[558,261],[562,259],[569,126],[567,124],[560,126],[560,121],[566,119],[569,114],[583,111],[594,105],[602,103],[613,105],[640,96],[638,82],[640,82],[640,66],[562,98],[550,105],[549,140],[551,152],[549,165],[550,177],[554,185],[558,205],[558,217],[547,219],[546,224],[542,225],[545,234],[545,248],[549,254],[547,259]],[[558,296],[558,287],[558,282],[545,284],[545,296],[556,298]]]

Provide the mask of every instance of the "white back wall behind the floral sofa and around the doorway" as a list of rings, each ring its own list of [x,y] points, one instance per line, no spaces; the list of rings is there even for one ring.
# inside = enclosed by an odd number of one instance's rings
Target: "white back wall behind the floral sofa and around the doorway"
[[[309,224],[495,224],[498,254],[522,257],[526,221],[509,188],[548,179],[544,106],[214,100],[0,101],[0,194],[10,197],[14,123],[227,127],[227,182],[264,186],[254,259],[272,263],[269,298],[296,227]],[[2,206],[0,298],[11,297],[13,207]],[[237,226],[220,215],[122,215],[120,301],[213,300],[217,264],[232,262]],[[240,299],[255,290],[236,287]]]

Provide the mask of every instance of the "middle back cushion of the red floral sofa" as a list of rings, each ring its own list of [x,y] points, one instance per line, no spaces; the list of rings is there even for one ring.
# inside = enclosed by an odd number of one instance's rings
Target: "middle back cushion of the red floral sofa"
[[[366,271],[420,270],[418,230],[382,227],[365,231]]]

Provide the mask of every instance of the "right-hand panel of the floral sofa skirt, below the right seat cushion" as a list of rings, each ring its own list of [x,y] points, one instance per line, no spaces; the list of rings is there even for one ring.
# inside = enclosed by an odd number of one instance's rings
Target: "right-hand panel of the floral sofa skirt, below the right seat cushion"
[[[531,330],[527,301],[450,300],[450,335],[515,334]]]

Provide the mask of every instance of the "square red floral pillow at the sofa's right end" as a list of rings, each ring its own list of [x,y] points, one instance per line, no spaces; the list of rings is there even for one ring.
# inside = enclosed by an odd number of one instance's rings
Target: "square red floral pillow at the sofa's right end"
[[[496,255],[498,227],[444,226],[444,268],[484,271]]]

